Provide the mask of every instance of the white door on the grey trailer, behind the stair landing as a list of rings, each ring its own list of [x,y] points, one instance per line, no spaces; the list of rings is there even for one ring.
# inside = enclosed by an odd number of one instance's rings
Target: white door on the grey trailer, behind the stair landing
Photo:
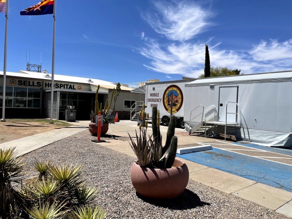
[[[238,86],[228,86],[219,88],[219,107],[218,107],[218,121],[226,121],[226,104],[227,102],[237,102]],[[236,113],[237,105],[235,103],[228,103],[227,112]],[[227,122],[236,122],[236,114],[227,114]]]

